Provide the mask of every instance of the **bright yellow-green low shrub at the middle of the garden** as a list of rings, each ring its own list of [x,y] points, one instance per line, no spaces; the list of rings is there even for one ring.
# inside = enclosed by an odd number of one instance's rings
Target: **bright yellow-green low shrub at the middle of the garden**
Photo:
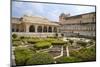
[[[49,48],[51,46],[51,43],[50,42],[46,42],[46,41],[40,41],[40,42],[37,42],[34,47],[36,49],[45,49],[45,48]]]

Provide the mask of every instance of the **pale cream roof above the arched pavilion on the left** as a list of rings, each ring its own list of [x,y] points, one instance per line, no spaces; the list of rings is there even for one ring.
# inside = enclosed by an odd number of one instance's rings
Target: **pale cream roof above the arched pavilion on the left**
[[[24,15],[21,18],[12,17],[12,23],[34,23],[34,24],[44,24],[44,25],[56,25],[59,26],[57,22],[49,21],[47,18],[38,16],[28,16]]]

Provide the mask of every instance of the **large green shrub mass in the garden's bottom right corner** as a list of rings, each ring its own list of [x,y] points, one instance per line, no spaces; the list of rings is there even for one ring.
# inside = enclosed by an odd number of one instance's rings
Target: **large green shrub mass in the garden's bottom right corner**
[[[95,47],[83,48],[79,51],[71,51],[70,56],[82,59],[82,61],[95,61],[96,60],[96,50]]]

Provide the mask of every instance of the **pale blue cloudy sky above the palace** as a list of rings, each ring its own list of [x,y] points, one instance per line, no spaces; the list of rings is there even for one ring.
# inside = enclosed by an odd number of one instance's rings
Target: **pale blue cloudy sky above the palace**
[[[48,3],[33,3],[33,2],[18,2],[12,1],[12,16],[22,17],[23,15],[40,16],[51,21],[59,21],[61,13],[71,16],[89,12],[95,12],[93,6],[83,5],[68,5],[68,4],[48,4]]]

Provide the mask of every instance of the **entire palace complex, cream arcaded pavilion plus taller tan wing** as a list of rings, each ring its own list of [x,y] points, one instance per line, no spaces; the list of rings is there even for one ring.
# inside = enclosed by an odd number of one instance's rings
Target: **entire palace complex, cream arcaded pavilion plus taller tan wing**
[[[12,34],[34,37],[96,36],[96,12],[75,16],[62,13],[59,22],[50,21],[43,17],[24,15],[12,17]]]

